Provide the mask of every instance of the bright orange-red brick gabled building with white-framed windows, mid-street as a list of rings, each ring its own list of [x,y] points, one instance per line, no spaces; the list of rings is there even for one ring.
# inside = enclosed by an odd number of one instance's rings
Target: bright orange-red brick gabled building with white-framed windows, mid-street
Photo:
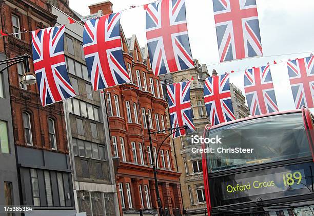
[[[102,10],[112,12],[107,1],[90,6],[91,13]],[[149,148],[145,113],[151,117],[152,131],[166,127],[167,102],[163,99],[160,80],[152,73],[147,48],[141,48],[135,35],[126,39],[121,29],[123,55],[131,84],[105,90],[108,122],[111,136],[112,156],[119,157],[116,185],[120,213],[134,213],[139,209],[158,207],[156,202],[153,169],[150,151],[154,155],[166,133],[152,135],[153,149]],[[182,199],[179,177],[174,171],[170,139],[166,140],[159,152],[158,184],[162,206],[181,211]]]

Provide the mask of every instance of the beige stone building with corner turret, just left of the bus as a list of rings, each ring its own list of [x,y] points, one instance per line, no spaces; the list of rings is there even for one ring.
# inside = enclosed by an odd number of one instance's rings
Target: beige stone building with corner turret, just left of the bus
[[[171,76],[167,75],[161,78],[164,84],[184,82],[193,78],[190,100],[196,130],[173,139],[175,161],[178,171],[182,173],[180,183],[186,215],[203,215],[206,211],[202,155],[191,151],[193,147],[201,148],[201,143],[192,143],[191,136],[203,136],[206,124],[210,123],[204,104],[204,82],[209,76],[206,65],[200,65],[197,60],[194,60],[194,68],[178,71]],[[217,76],[215,70],[213,70],[212,76]],[[235,116],[237,118],[248,116],[248,107],[245,105],[245,97],[241,91],[233,84],[230,84],[230,91]]]

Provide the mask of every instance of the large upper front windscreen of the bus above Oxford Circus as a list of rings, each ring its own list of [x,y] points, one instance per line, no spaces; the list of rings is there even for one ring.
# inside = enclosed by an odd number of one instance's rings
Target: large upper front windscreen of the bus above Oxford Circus
[[[208,172],[311,156],[301,113],[228,124],[209,130],[206,137],[221,137],[221,143],[207,144],[215,150],[207,153]],[[237,148],[253,150],[231,152]]]

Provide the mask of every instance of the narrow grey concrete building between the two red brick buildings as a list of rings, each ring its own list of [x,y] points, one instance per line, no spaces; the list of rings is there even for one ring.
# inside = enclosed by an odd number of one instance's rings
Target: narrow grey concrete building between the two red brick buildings
[[[67,7],[52,6],[56,25],[80,19]],[[71,15],[71,16],[70,16]],[[83,51],[84,25],[66,25],[66,65],[76,97],[64,102],[70,163],[77,212],[119,215],[103,93],[94,92]]]

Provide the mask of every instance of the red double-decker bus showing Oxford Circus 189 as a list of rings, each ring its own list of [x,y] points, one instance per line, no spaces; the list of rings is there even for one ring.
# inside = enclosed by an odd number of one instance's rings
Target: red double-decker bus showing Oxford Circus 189
[[[314,115],[309,109],[210,127],[203,143],[209,215],[314,215]]]

